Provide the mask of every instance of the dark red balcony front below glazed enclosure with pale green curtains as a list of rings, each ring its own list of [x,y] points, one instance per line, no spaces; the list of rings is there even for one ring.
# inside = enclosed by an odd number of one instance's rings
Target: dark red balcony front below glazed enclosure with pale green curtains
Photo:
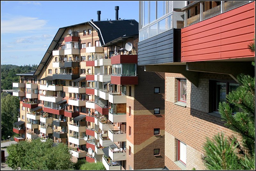
[[[112,76],[111,84],[117,85],[136,85],[138,84],[138,76]]]

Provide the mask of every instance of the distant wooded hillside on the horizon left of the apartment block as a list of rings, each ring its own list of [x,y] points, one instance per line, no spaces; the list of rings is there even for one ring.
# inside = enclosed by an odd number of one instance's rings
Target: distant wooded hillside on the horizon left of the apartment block
[[[19,76],[16,74],[28,73],[35,71],[37,65],[1,65],[1,90],[12,89],[12,82],[19,82]]]

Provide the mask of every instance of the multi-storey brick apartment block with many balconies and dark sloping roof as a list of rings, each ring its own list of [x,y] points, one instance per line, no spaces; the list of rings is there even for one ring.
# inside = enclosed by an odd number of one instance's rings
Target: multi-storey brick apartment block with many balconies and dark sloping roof
[[[15,141],[51,138],[107,170],[164,168],[164,73],[137,65],[139,23],[115,10],[59,28],[36,71],[13,83]]]

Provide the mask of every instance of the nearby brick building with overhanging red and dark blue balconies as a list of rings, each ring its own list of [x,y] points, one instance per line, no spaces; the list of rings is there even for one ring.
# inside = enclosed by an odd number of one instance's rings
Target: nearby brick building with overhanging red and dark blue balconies
[[[205,169],[206,137],[237,135],[218,104],[239,86],[237,75],[255,75],[254,36],[254,1],[140,1],[138,65],[165,72],[168,169]]]

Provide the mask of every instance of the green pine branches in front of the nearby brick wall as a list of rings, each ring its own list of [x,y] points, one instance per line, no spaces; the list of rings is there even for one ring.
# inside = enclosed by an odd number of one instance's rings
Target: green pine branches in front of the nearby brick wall
[[[255,52],[255,39],[248,47]],[[227,139],[223,133],[213,140],[207,138],[202,156],[207,169],[255,170],[255,76],[241,74],[237,79],[240,86],[227,95],[227,103],[219,104],[219,112],[225,126],[239,133],[241,142],[235,136]],[[231,105],[239,112],[233,114]]]

